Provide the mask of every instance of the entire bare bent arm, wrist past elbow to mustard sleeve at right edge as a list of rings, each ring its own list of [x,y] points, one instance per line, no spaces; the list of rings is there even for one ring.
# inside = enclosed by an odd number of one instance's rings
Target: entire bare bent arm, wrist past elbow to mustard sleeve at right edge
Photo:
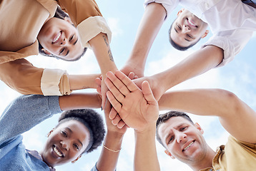
[[[235,94],[221,89],[167,92],[159,100],[161,110],[181,110],[195,115],[218,116],[237,140],[256,143],[256,113]]]

